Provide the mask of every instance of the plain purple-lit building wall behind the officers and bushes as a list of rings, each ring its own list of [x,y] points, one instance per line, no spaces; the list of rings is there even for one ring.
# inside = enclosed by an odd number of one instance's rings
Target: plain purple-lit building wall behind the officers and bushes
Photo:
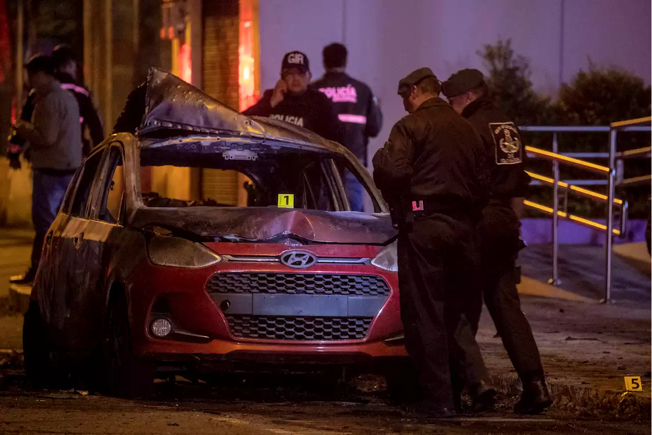
[[[304,51],[314,77],[321,49],[344,42],[349,73],[376,92],[385,113],[370,153],[404,116],[398,80],[429,66],[441,80],[461,68],[482,69],[477,51],[499,38],[531,59],[537,91],[554,94],[589,58],[618,65],[652,84],[649,0],[265,0],[259,5],[261,88],[274,86],[280,61]],[[563,30],[563,31],[562,31]]]

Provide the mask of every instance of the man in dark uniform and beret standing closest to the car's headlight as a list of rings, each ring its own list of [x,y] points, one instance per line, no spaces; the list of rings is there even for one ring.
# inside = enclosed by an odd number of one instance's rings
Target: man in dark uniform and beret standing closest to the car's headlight
[[[429,68],[400,80],[409,114],[373,161],[374,180],[400,231],[401,318],[424,389],[418,409],[428,415],[452,413],[451,370],[461,370],[477,403],[493,403],[496,393],[464,315],[467,302],[480,297],[474,234],[486,201],[482,141],[438,97],[440,87]]]

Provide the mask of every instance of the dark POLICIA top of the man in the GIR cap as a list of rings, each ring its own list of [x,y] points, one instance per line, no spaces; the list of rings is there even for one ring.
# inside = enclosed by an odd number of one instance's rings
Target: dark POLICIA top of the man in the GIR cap
[[[244,110],[243,114],[293,123],[323,138],[342,143],[342,125],[326,95],[315,89],[308,89],[301,95],[286,93],[283,101],[272,107],[272,94],[273,89],[267,89],[260,101]]]

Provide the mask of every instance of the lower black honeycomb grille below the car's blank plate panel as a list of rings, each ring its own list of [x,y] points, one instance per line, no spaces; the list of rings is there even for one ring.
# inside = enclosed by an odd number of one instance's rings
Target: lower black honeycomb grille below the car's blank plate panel
[[[278,317],[227,315],[231,334],[237,338],[267,340],[360,340],[373,317]]]

